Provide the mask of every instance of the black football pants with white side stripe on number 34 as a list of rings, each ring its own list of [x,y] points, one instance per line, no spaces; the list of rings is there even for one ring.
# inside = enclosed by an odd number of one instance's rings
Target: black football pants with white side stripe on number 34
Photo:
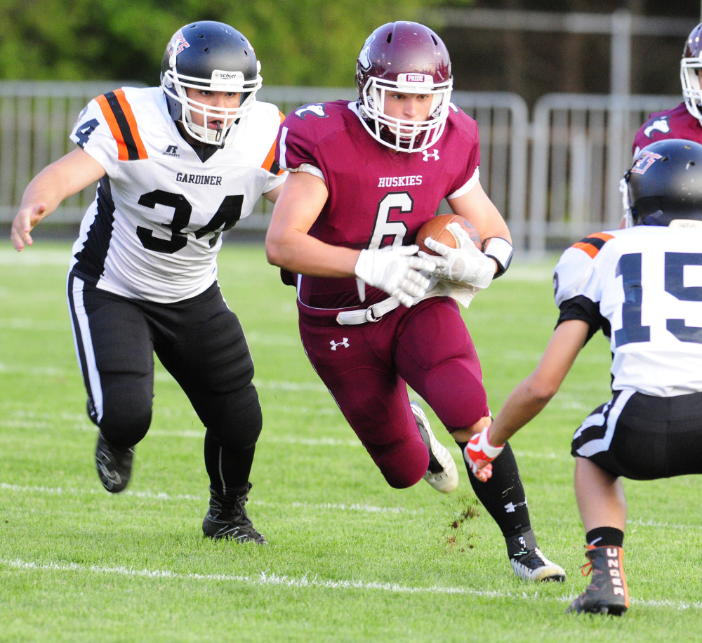
[[[140,442],[154,397],[154,352],[206,427],[205,463],[220,492],[244,489],[263,420],[253,359],[218,284],[173,304],[124,298],[68,277],[88,415],[107,442]]]

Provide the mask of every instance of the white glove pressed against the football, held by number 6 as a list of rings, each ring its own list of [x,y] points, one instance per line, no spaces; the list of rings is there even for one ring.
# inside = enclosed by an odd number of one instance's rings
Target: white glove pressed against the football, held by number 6
[[[495,276],[495,264],[491,258],[479,251],[472,239],[459,223],[449,224],[449,229],[456,237],[456,248],[449,248],[431,237],[424,243],[440,257],[435,259],[435,274],[447,281],[461,281],[477,289],[487,288]],[[428,256],[422,253],[422,256]]]

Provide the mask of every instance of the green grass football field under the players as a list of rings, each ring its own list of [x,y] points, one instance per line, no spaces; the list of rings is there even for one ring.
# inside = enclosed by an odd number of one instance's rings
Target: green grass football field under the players
[[[204,429],[158,366],[129,488],[102,490],[65,300],[69,244],[0,250],[0,641],[699,640],[700,480],[625,482],[623,618],[564,615],[585,579],[572,432],[609,395],[602,336],[512,440],[541,548],[564,584],[519,581],[461,471],[442,496],[385,484],[307,362],[295,295],[263,248],[225,246],[220,284],[256,361],[264,428],[248,505],[270,546],[205,541]],[[519,257],[465,311],[493,411],[550,337],[555,257]],[[428,333],[432,329],[427,329]],[[446,386],[451,383],[447,382]],[[426,406],[425,406],[426,409]],[[426,409],[429,411],[428,409]],[[604,639],[603,639],[604,640]]]

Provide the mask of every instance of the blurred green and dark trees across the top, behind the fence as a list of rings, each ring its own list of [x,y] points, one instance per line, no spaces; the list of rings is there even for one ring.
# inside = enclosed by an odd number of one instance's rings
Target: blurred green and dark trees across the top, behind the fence
[[[513,91],[529,105],[551,92],[607,93],[605,34],[455,26],[439,8],[483,8],[700,19],[700,0],[0,0],[0,80],[115,80],[157,85],[179,27],[220,20],[249,38],[264,83],[351,87],[373,29],[418,20],[451,53],[454,88]],[[683,35],[635,37],[632,93],[680,93]]]

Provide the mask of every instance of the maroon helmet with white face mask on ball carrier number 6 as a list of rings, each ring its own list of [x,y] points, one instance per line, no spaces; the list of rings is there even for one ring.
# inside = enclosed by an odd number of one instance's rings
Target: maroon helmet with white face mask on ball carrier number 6
[[[401,152],[435,145],[449,117],[453,77],[446,46],[418,22],[388,22],[369,37],[356,61],[361,122],[378,142]],[[383,112],[385,93],[432,96],[429,117],[410,121]]]

